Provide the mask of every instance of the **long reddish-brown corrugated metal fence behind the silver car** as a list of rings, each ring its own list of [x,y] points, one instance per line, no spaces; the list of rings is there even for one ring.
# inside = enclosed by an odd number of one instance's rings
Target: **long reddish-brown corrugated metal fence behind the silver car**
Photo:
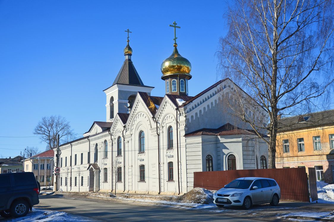
[[[281,188],[281,200],[310,202],[305,168],[194,172],[194,188],[202,187],[208,190],[219,190],[232,180],[240,177],[275,179]]]

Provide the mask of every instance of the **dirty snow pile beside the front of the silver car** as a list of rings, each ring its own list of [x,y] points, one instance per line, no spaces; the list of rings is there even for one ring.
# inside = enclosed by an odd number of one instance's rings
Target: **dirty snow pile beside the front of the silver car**
[[[196,187],[178,198],[183,203],[210,204],[213,203],[213,193],[210,190]]]

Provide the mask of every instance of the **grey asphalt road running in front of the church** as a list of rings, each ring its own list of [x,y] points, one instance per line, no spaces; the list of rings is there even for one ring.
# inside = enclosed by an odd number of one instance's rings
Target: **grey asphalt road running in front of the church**
[[[240,215],[226,216],[223,212],[86,198],[75,199],[59,194],[40,196],[39,201],[35,208],[64,211],[92,221],[259,221],[256,217],[247,218],[245,215],[247,212],[242,210]],[[280,220],[275,219],[275,221]]]

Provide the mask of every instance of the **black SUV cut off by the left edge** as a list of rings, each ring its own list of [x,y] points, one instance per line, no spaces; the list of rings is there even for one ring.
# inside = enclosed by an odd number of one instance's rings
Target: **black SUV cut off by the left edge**
[[[39,185],[32,172],[0,174],[0,215],[23,217],[39,203]]]

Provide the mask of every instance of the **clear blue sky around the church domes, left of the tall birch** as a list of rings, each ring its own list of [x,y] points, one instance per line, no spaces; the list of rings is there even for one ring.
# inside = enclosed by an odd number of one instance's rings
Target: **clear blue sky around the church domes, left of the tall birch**
[[[173,51],[192,65],[189,95],[219,80],[215,52],[225,34],[225,1],[0,0],[0,156],[46,145],[32,131],[43,116],[64,116],[77,136],[106,120],[106,96],[124,61],[132,61],[152,95],[164,95],[160,65]],[[6,137],[4,137],[6,136]],[[11,136],[11,137],[9,137]]]

